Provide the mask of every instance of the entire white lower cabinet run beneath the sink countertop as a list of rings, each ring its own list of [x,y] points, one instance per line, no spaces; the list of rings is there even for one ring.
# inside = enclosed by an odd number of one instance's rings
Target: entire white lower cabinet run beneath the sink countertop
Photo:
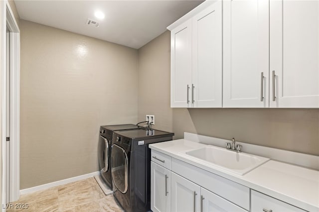
[[[161,164],[159,159],[164,162]],[[162,166],[164,164],[170,170],[164,168]],[[153,212],[306,212],[153,149],[151,210]]]

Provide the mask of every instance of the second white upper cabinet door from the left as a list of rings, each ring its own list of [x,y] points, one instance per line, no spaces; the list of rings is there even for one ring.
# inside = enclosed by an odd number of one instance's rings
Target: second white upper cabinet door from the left
[[[222,107],[222,2],[192,18],[194,107]]]

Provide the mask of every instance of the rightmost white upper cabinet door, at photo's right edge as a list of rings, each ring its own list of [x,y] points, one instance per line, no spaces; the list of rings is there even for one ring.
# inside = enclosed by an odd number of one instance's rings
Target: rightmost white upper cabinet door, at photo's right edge
[[[270,107],[319,107],[318,0],[270,1],[270,79]]]

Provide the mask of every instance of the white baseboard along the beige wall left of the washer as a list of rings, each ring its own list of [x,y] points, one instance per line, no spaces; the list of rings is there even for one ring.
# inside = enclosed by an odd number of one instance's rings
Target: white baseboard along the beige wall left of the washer
[[[55,181],[55,182],[52,182],[52,183],[43,184],[43,185],[40,185],[40,186],[35,186],[35,187],[27,188],[27,189],[22,189],[22,190],[20,190],[20,195],[30,194],[30,193],[41,191],[41,190],[44,190],[44,189],[49,189],[49,188],[52,188],[52,187],[55,187],[55,186],[61,186],[61,185],[64,185],[64,184],[67,184],[67,183],[72,183],[72,182],[75,182],[75,181],[78,181],[78,180],[84,180],[84,179],[87,179],[87,178],[90,178],[90,177],[94,177],[95,175],[99,175],[99,174],[100,174],[99,171],[98,172],[92,172],[92,173],[89,173],[89,174],[80,175],[80,176],[68,178],[68,179],[65,179],[65,180],[59,180],[59,181]]]

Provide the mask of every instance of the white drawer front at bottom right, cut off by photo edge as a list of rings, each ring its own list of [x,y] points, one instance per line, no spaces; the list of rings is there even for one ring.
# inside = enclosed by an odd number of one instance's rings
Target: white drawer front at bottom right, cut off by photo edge
[[[304,210],[282,202],[270,196],[251,190],[252,212],[305,212]]]

